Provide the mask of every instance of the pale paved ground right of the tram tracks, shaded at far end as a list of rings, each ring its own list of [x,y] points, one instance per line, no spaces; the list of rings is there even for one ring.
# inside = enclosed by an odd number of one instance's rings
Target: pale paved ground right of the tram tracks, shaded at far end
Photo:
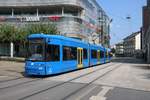
[[[122,57],[113,62],[122,65],[95,84],[150,91],[150,66],[143,60]]]

